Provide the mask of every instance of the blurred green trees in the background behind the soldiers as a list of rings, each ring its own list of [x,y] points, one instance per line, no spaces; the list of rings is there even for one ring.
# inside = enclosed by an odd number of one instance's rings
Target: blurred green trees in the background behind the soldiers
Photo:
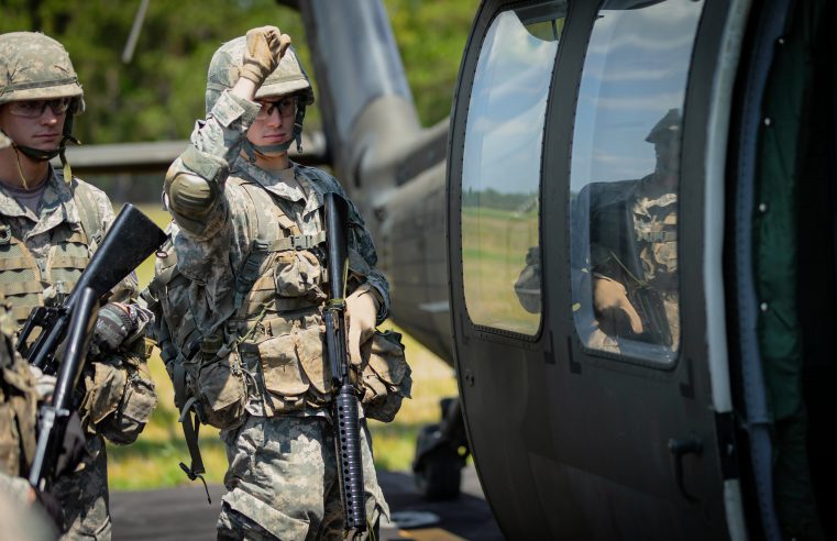
[[[203,117],[209,59],[247,29],[275,24],[311,66],[302,21],[272,0],[151,0],[133,58],[122,62],[141,0],[0,0],[0,33],[41,31],[64,44],[85,88],[88,110],[76,134],[84,143],[188,137]],[[450,113],[477,0],[385,0],[419,118],[431,125]],[[310,71],[310,70],[309,70]],[[316,109],[316,108],[315,108]],[[319,111],[306,119],[319,124]]]

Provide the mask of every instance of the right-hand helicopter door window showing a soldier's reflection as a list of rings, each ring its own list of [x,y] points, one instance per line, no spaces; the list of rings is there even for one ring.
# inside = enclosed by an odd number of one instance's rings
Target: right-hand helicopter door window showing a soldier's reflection
[[[703,3],[605,0],[573,132],[573,317],[582,343],[670,364],[680,347],[678,188]]]

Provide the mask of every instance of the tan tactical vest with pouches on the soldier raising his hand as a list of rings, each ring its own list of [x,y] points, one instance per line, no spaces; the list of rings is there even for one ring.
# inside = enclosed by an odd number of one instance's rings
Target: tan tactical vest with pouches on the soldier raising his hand
[[[175,379],[175,401],[188,409],[190,396],[196,397],[201,421],[221,429],[239,422],[251,399],[267,417],[331,400],[321,313],[324,232],[300,234],[260,184],[238,177],[227,181],[241,187],[254,209],[253,241],[235,278],[231,317],[201,334],[190,308],[192,285],[177,272],[170,242],[150,286],[165,314],[158,342]]]

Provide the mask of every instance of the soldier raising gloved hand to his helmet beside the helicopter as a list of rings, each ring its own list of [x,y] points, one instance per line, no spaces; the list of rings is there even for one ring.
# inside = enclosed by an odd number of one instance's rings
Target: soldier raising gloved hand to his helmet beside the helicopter
[[[203,422],[222,429],[229,492],[219,539],[343,534],[322,351],[322,206],[323,194],[344,192],[330,175],[288,158],[313,102],[288,44],[278,29],[265,26],[212,57],[207,119],[166,175],[172,244],[148,291],[175,393],[185,386],[184,396],[194,397],[178,406],[196,406]],[[374,267],[372,240],[350,207],[346,311],[355,360],[386,318],[389,292]],[[362,427],[374,531],[388,507]]]

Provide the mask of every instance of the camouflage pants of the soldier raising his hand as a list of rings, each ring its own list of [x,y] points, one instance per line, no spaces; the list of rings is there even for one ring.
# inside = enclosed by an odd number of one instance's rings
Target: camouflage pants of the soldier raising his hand
[[[368,430],[361,438],[366,517],[389,508],[377,484]],[[223,434],[229,490],[218,539],[343,538],[343,510],[331,422],[324,417],[255,417]]]

